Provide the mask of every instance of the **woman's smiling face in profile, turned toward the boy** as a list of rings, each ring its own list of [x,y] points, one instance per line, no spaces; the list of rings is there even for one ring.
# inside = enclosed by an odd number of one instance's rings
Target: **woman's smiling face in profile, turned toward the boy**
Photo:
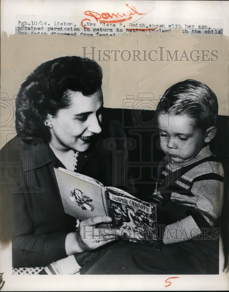
[[[57,150],[86,151],[93,135],[101,132],[103,94],[98,89],[90,96],[79,91],[68,91],[69,107],[60,109],[56,116],[48,115],[51,122],[51,145]]]

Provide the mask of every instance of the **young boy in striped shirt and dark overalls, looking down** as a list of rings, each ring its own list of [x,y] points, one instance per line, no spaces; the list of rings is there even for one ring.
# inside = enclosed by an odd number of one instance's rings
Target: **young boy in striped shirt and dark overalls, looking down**
[[[181,81],[166,90],[157,112],[166,157],[158,167],[160,183],[152,197],[160,202],[163,243],[191,239],[193,253],[215,256],[218,265],[224,174],[208,145],[216,134],[216,95],[199,81]]]

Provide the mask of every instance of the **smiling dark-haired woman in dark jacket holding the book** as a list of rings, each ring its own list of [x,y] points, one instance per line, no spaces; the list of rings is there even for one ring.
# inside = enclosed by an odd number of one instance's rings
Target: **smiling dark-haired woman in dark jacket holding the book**
[[[1,177],[7,182],[1,184],[1,206],[6,208],[11,194],[13,202],[13,267],[45,266],[115,239],[83,239],[82,225],[90,230],[111,218],[88,218],[76,231],[76,219],[64,212],[54,174],[54,167],[64,167],[113,185],[112,151],[103,142],[125,135],[117,121],[102,121],[101,84],[97,62],[67,56],[39,65],[19,89],[17,136],[1,150],[6,162]],[[1,213],[4,218],[6,212]],[[7,226],[10,221],[8,216]],[[4,228],[2,234],[7,237]]]

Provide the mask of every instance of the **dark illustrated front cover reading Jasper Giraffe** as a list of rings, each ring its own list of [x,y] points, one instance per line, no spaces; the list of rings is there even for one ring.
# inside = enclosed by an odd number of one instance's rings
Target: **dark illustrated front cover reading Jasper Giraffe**
[[[123,238],[159,249],[156,205],[141,201],[115,188],[105,188],[112,227],[120,227]]]

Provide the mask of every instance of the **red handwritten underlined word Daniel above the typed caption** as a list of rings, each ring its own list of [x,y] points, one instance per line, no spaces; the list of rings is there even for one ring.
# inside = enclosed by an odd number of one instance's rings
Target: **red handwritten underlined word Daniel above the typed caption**
[[[128,8],[130,8],[130,10],[126,11],[125,13],[108,13],[108,12],[103,12],[101,14],[94,12],[94,11],[85,11],[84,14],[87,16],[90,16],[92,18],[94,18],[97,22],[104,22],[104,23],[118,23],[118,22],[123,22],[126,20],[130,20],[132,18],[132,15],[144,15],[145,13],[139,13],[137,12],[137,9],[131,5],[131,4],[126,4],[126,6]],[[113,19],[114,18],[114,19]],[[86,27],[85,25],[83,25],[83,21],[88,20],[91,21],[91,19],[89,18],[85,18],[81,21],[81,25],[83,28],[87,29],[88,27]]]

